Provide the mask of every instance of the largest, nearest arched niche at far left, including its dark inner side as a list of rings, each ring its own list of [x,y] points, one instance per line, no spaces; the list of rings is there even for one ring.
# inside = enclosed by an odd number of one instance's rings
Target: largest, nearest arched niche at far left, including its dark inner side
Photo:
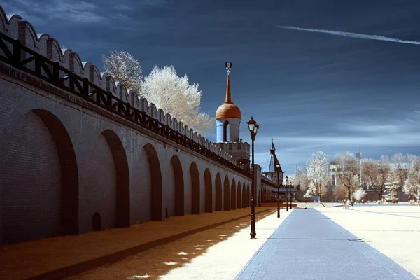
[[[3,212],[3,237],[0,240],[11,244],[78,234],[78,165],[69,133],[57,116],[43,109],[28,111],[14,126],[10,139],[1,147],[1,195],[4,201],[8,201],[8,197],[11,200],[20,193],[25,204],[19,207],[28,211],[19,215],[12,204],[0,205]],[[30,148],[40,141],[41,145],[36,149]],[[25,147],[31,153],[24,153]],[[48,158],[48,155],[52,157]],[[42,157],[47,158],[43,165],[39,165]],[[23,174],[12,176],[22,169],[26,169],[27,174],[42,175],[37,180]],[[33,193],[25,192],[39,188],[47,188],[51,200],[39,200]],[[40,219],[43,223],[36,223]]]

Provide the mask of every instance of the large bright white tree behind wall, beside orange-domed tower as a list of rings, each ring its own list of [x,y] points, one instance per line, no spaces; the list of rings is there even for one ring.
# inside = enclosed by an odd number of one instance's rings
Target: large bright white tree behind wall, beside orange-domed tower
[[[184,125],[205,134],[214,125],[214,119],[200,113],[202,92],[198,86],[191,85],[187,75],[178,76],[174,66],[154,66],[141,84],[141,94]]]

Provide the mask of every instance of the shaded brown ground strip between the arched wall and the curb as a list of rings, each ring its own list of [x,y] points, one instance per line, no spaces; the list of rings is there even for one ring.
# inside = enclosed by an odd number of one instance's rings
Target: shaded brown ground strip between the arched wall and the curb
[[[267,209],[272,208],[256,207],[255,211]],[[146,222],[132,225],[130,228],[90,232],[84,235],[52,237],[3,246],[0,247],[0,279],[26,279],[30,276],[110,255],[188,230],[228,221],[232,218],[249,216],[250,211],[251,208],[247,207],[235,211],[175,216],[164,222]],[[248,220],[249,218],[245,218],[244,222]],[[154,258],[156,257],[158,256]],[[153,258],[153,254],[149,258]]]

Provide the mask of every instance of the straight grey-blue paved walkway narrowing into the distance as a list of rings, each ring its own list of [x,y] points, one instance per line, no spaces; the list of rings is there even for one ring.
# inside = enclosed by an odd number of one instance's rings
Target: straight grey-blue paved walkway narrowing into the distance
[[[236,279],[416,277],[316,209],[295,209]]]

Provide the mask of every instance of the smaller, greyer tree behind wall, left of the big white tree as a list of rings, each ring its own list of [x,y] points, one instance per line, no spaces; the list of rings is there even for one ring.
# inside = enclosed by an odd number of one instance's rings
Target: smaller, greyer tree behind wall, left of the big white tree
[[[102,55],[102,62],[106,73],[125,87],[140,91],[143,70],[139,62],[129,52],[110,52],[109,56]]]

